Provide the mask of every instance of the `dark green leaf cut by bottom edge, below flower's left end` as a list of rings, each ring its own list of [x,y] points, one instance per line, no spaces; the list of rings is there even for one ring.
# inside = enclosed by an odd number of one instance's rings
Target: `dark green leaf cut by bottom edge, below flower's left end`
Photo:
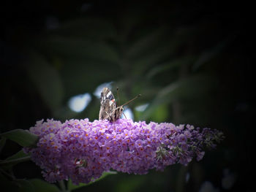
[[[34,186],[34,190],[37,192],[57,192],[59,191],[59,188],[54,185],[47,183],[44,180],[39,180],[39,179],[32,179],[29,180],[29,182]]]

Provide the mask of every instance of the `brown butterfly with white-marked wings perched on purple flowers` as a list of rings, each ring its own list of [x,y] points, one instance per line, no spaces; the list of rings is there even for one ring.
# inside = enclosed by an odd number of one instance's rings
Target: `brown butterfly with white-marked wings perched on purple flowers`
[[[109,88],[103,88],[100,95],[99,120],[107,119],[111,122],[115,122],[116,120],[121,118],[121,115],[124,112],[124,105],[129,104],[129,102],[137,99],[139,96],[141,95],[139,94],[134,99],[117,107],[113,93],[109,90]]]

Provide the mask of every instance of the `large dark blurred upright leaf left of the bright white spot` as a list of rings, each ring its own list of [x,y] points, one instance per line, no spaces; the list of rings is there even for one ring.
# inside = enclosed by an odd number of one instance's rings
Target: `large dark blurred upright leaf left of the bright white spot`
[[[37,53],[30,54],[26,69],[45,104],[52,111],[58,109],[62,103],[64,90],[57,70]]]

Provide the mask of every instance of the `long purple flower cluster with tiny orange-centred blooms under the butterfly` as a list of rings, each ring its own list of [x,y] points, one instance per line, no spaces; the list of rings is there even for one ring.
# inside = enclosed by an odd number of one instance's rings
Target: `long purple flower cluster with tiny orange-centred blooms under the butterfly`
[[[26,148],[42,168],[48,182],[72,179],[89,183],[114,169],[146,174],[171,164],[187,165],[203,158],[203,147],[215,147],[222,132],[209,128],[175,126],[173,123],[108,120],[40,120],[30,132],[39,136],[37,147]]]

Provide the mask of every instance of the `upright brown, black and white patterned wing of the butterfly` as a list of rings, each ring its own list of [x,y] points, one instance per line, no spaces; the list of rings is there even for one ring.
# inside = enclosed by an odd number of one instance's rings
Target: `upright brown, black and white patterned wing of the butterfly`
[[[99,120],[112,120],[111,114],[116,110],[116,100],[109,88],[103,88],[100,96]]]

